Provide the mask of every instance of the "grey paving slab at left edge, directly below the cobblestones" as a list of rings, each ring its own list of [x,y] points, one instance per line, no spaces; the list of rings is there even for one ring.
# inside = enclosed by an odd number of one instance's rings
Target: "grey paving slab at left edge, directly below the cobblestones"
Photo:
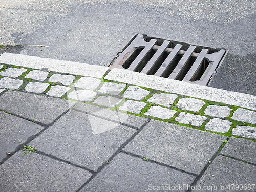
[[[69,109],[69,103],[58,98],[7,91],[0,96],[0,109],[49,124]]]

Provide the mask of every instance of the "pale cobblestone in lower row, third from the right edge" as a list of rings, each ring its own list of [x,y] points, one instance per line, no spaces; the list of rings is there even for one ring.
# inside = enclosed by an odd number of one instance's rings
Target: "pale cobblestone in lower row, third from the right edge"
[[[207,119],[205,116],[194,115],[191,113],[181,112],[178,117],[175,118],[176,121],[184,124],[191,124],[194,126],[201,126]]]

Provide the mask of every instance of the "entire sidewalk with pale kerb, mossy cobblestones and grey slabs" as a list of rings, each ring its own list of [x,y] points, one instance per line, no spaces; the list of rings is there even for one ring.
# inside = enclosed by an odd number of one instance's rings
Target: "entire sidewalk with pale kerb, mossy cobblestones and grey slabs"
[[[256,190],[255,96],[11,53],[0,63],[1,191]]]

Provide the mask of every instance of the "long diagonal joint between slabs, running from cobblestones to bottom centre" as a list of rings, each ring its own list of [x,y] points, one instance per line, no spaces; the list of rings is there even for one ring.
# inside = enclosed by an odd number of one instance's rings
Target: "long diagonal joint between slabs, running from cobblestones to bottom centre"
[[[102,163],[102,165],[98,168],[97,172],[96,172],[95,174],[93,174],[84,184],[82,184],[82,185],[80,186],[80,188],[77,190],[77,192],[80,191],[84,186],[86,186],[98,173],[101,172],[101,170],[102,170],[105,166],[107,166],[109,163],[111,163],[111,160],[114,159],[114,157],[115,157],[118,153],[120,153],[120,152],[122,151],[122,149],[123,149],[129,142],[131,142],[131,141],[134,139],[134,137],[139,134],[139,132],[143,129],[143,127],[145,127],[145,126],[147,125],[147,123],[150,122],[150,121],[151,121],[151,119],[148,119],[148,120],[140,127],[140,129],[138,129],[129,139],[127,139],[124,143],[122,143],[122,144],[120,145],[120,147],[118,147],[118,149],[116,150],[116,152],[115,152],[106,162],[103,162],[103,163]]]

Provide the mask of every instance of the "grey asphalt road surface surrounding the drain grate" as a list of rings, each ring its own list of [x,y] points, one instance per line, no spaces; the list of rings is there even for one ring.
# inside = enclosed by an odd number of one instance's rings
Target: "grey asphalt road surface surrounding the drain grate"
[[[135,33],[230,50],[210,86],[256,95],[254,0],[1,0],[1,48],[106,66]],[[41,50],[42,49],[42,50]]]

